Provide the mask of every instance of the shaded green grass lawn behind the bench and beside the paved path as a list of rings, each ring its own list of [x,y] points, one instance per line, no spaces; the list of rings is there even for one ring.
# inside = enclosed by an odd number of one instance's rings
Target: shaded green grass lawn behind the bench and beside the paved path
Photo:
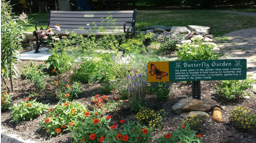
[[[28,14],[29,18],[36,21],[47,21],[48,13]],[[28,26],[27,31],[33,31],[34,26]],[[218,13],[203,10],[138,10],[136,17],[136,29],[142,29],[145,26],[165,25],[165,26],[186,26],[200,25],[209,26],[211,33],[215,36],[221,36],[235,30],[256,27],[256,18],[243,15],[234,15]],[[61,25],[60,25],[61,26]],[[46,28],[46,23],[38,26]]]

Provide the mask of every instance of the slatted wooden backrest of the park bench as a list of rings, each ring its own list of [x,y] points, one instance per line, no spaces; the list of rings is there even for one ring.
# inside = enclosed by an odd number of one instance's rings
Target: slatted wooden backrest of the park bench
[[[50,22],[49,27],[54,27],[57,23],[59,24],[61,30],[78,30],[83,27],[83,29],[93,29],[95,25],[96,28],[103,26],[105,29],[124,29],[124,23],[127,23],[125,28],[134,29],[135,28],[135,17],[137,10],[134,11],[51,11],[50,12]],[[109,17],[109,18],[107,18]],[[111,18],[110,18],[111,17]],[[107,18],[107,19],[106,19]],[[115,25],[109,23],[108,21],[115,20]],[[133,22],[133,23],[131,23]],[[88,25],[89,24],[89,25]],[[124,30],[123,30],[124,31]]]

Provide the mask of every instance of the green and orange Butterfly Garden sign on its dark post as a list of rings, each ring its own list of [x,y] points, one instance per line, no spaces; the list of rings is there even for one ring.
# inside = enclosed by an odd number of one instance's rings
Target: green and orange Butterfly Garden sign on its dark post
[[[192,98],[200,100],[200,81],[245,80],[246,59],[148,62],[149,82],[192,81]]]

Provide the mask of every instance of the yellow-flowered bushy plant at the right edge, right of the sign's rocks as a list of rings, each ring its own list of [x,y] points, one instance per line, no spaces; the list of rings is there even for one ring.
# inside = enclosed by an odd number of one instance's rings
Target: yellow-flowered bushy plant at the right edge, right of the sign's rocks
[[[253,126],[254,114],[250,113],[250,110],[246,110],[247,107],[236,107],[231,109],[231,121],[238,128],[251,128]]]

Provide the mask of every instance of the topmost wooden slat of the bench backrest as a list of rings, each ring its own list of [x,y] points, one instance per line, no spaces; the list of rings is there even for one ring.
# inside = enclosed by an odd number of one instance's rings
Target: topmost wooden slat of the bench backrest
[[[92,15],[92,14],[133,14],[133,11],[51,11],[51,14],[83,14],[83,15]]]

